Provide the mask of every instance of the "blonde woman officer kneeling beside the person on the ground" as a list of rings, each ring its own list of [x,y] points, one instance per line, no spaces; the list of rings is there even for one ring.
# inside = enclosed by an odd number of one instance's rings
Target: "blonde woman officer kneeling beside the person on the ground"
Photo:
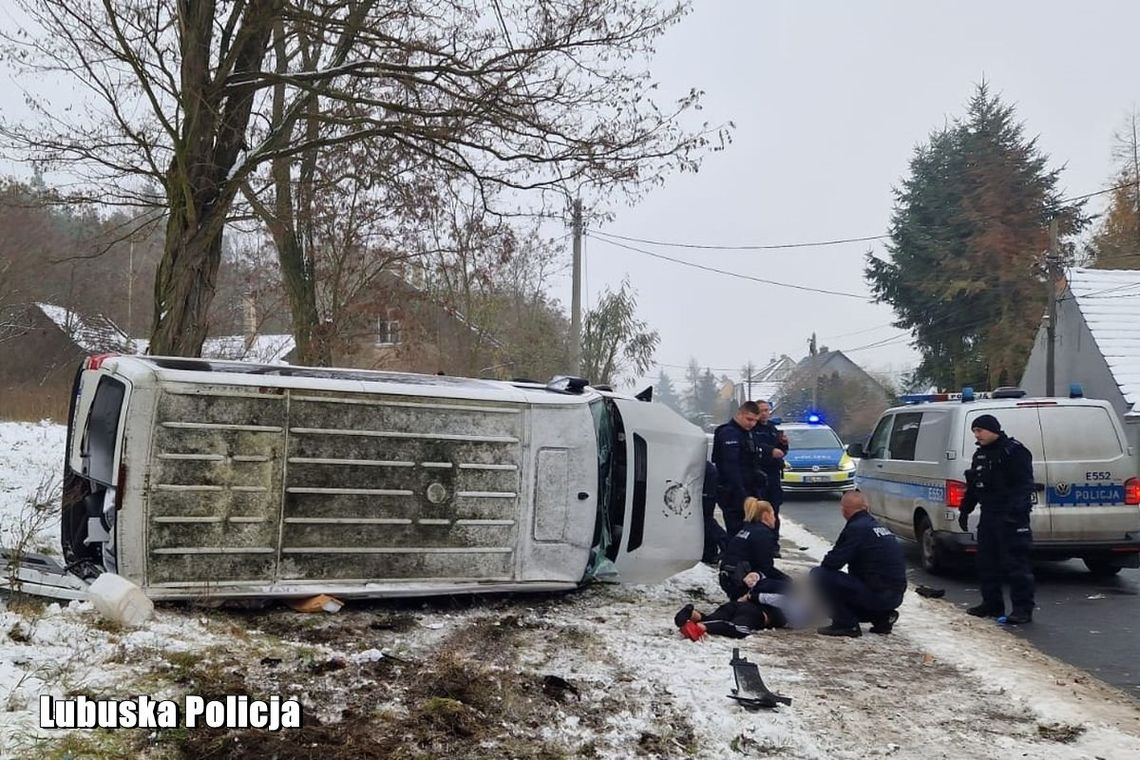
[[[743,526],[728,539],[717,577],[730,600],[748,593],[744,577],[752,572],[760,575],[758,594],[783,594],[788,590],[791,579],[775,566],[780,546],[775,524],[776,515],[771,504],[752,497],[744,499]]]

